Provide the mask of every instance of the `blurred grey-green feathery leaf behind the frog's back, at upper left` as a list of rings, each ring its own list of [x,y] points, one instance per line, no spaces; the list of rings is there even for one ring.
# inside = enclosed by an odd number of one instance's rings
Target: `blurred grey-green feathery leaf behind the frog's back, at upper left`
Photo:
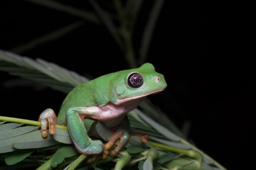
[[[42,59],[32,60],[12,52],[0,50],[0,70],[33,81],[41,82],[62,92],[70,92],[74,86],[89,81],[87,78],[69,71],[57,64]],[[12,63],[10,65],[10,63]]]

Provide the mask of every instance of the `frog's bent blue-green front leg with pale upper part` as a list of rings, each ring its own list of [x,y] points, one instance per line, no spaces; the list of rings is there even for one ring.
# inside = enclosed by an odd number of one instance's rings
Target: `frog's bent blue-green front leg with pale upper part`
[[[90,117],[90,115],[99,114],[96,107],[73,107],[67,110],[67,127],[69,129],[70,136],[75,144],[79,153],[84,155],[97,155],[102,151],[108,155],[108,151],[105,150],[102,141],[93,141],[87,135],[87,131],[84,127],[84,118]]]

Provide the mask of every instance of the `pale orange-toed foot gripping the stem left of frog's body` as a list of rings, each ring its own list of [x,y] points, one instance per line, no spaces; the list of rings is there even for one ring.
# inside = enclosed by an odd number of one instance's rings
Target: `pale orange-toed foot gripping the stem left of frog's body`
[[[52,109],[45,109],[39,116],[38,121],[41,121],[41,135],[47,137],[47,126],[49,125],[49,133],[55,134],[55,124],[58,124],[57,116]]]

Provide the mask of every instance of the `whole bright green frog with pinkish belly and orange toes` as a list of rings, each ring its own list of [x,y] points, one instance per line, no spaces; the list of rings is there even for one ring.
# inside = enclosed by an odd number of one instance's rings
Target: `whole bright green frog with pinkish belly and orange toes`
[[[134,73],[135,76],[130,78],[129,76]],[[130,85],[129,78],[136,81],[140,76],[143,82]],[[102,141],[93,141],[89,138],[84,128],[84,118],[103,121],[110,128],[117,127],[126,113],[135,109],[145,96],[163,91],[166,86],[163,75],[155,72],[154,66],[150,63],[145,63],[137,69],[103,75],[76,86],[67,95],[58,114],[58,124],[67,124],[76,149],[84,155],[97,155],[102,151],[108,154],[107,150],[113,142],[118,138],[122,139],[112,152],[111,156],[113,156],[126,143],[128,136],[117,130],[111,138],[114,141],[104,147]],[[43,136],[47,135],[47,133],[43,134],[47,129],[47,122],[50,125],[49,133],[55,133],[54,123],[57,123],[57,120],[52,109],[46,109],[39,119],[42,122]]]

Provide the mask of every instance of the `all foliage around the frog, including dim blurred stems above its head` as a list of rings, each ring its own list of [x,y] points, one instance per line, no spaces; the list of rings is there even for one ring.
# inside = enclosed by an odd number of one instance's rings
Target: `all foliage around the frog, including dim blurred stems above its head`
[[[123,4],[119,0],[114,0],[115,5],[111,5],[115,6],[113,11],[116,12],[116,15],[102,9],[103,5],[99,5],[94,0],[88,2],[95,9],[95,14],[73,7],[70,8],[56,1],[29,0],[29,2],[49,7],[52,10],[61,10],[66,14],[79,17],[79,20],[82,18],[82,21],[54,31],[55,34],[49,33],[40,40],[32,40],[33,47],[52,40],[52,37],[56,37],[56,32],[61,37],[61,35],[73,31],[86,21],[103,24],[116,41],[130,68],[135,68],[146,61],[154,26],[164,1],[156,0],[152,4],[152,10],[142,33],[140,52],[134,52],[131,37],[143,4],[142,0],[127,0]],[[117,24],[119,26],[115,26],[116,22],[119,22]],[[19,48],[21,52],[28,50],[26,46],[22,47]],[[140,55],[135,57],[136,53]],[[21,78],[37,81],[64,93],[70,92],[78,84],[89,81],[76,72],[69,71],[54,63],[42,59],[34,61],[31,58],[21,57],[2,50],[0,50],[0,70]],[[175,124],[160,109],[154,107],[154,104],[151,104],[150,101],[141,103],[140,109],[130,112],[128,118],[134,133],[150,136],[148,143],[144,144],[139,137],[131,136],[128,144],[114,158],[108,156],[102,159],[102,156],[99,155],[95,161],[88,164],[87,160],[90,157],[81,155],[76,151],[67,129],[56,127],[55,135],[42,138],[38,125],[28,126],[32,125],[31,121],[21,122],[21,120],[16,121],[15,118],[9,118],[9,122],[16,123],[9,123],[6,120],[1,122],[0,116],[0,169],[15,170],[20,169],[20,165],[23,165],[26,169],[38,167],[37,170],[53,168],[61,170],[77,168],[105,170],[115,167],[116,169],[127,170],[138,168],[140,170],[225,170],[214,159],[187,142]],[[100,132],[100,137],[94,138],[102,140],[104,143],[109,140],[109,136],[113,133],[104,125],[97,124],[97,122],[87,122],[86,125],[87,129],[96,128]]]

